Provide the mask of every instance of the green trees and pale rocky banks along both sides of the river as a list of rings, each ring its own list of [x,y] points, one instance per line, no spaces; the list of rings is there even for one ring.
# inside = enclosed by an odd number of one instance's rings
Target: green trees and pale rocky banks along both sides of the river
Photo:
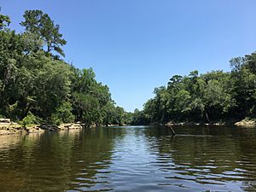
[[[256,125],[255,52],[231,59],[230,72],[174,75],[143,110],[130,113],[116,106],[92,68],[65,61],[67,41],[49,15],[26,10],[23,17],[24,32],[17,33],[0,14],[0,119],[8,119],[0,122],[0,135],[108,125]]]

